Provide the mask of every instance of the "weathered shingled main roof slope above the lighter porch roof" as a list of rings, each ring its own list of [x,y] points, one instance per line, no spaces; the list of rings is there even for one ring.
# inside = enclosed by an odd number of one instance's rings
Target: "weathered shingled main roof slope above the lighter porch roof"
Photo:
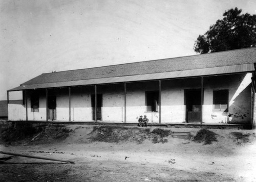
[[[44,73],[35,77],[34,79],[29,80],[28,82],[23,83],[22,85],[80,81],[201,68],[215,68],[248,63],[256,63],[256,47],[195,56]]]

